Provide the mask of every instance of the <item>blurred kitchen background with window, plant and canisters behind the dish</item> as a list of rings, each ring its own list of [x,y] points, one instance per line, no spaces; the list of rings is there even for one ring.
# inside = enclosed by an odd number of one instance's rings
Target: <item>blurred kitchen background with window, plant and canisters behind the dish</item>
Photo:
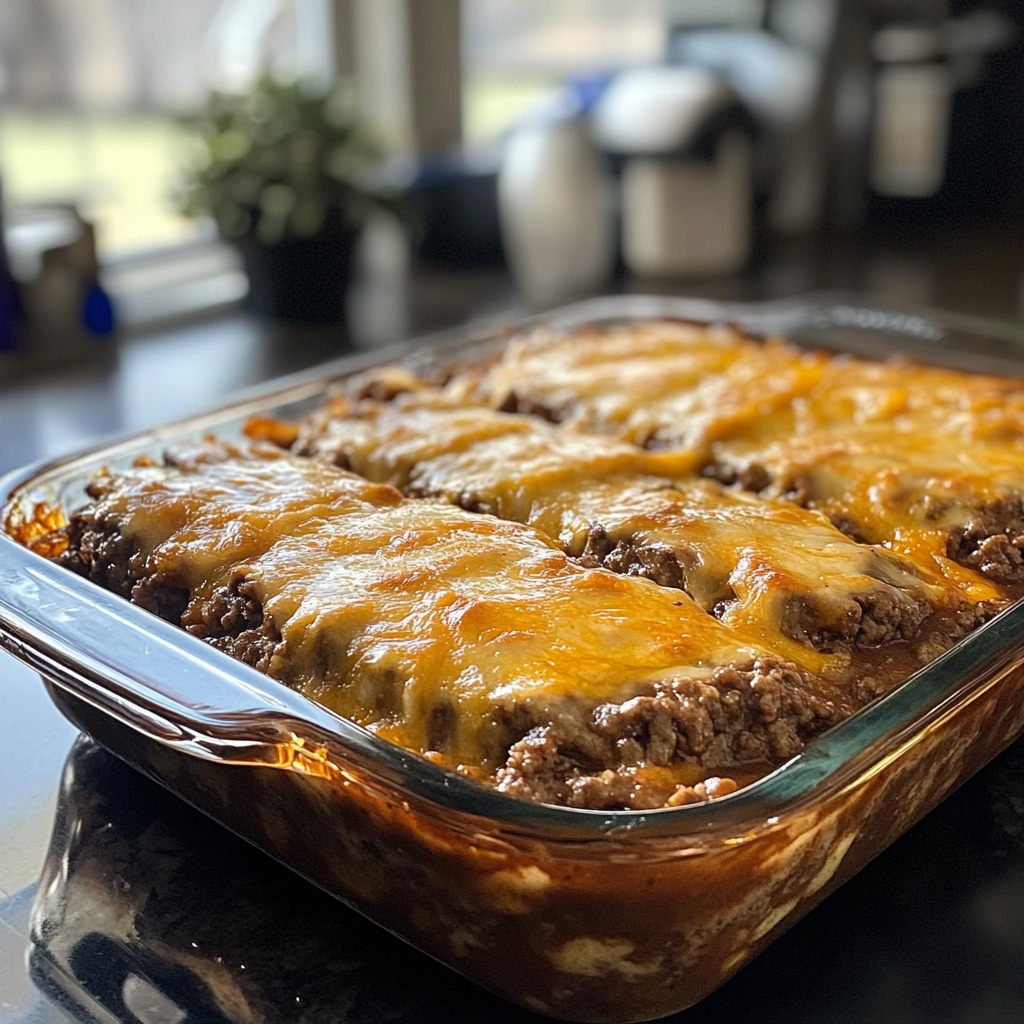
[[[1020,0],[3,0],[0,467],[598,293],[1019,324],[1022,72]]]

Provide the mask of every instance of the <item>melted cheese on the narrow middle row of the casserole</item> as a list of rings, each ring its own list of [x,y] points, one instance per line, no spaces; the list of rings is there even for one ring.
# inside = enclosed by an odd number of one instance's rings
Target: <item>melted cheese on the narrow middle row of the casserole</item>
[[[818,672],[827,659],[788,637],[848,629],[860,604],[881,593],[919,620],[915,602],[954,603],[936,574],[850,540],[820,513],[684,479],[697,466],[686,453],[453,407],[436,394],[337,401],[306,424],[301,445],[370,479],[529,523],[570,555],[588,551],[595,528],[609,547],[649,552],[648,564],[668,553],[701,607]],[[634,570],[653,574],[643,560]],[[812,609],[804,616],[812,621],[798,623],[797,607]]]

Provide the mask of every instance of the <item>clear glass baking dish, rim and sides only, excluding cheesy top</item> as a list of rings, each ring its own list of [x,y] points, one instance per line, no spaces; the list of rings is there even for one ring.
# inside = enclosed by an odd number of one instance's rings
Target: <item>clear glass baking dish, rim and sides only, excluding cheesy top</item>
[[[1012,328],[845,296],[762,305],[613,297],[536,318],[727,319],[808,345],[1000,372]],[[527,323],[534,323],[527,322]],[[287,418],[372,361],[478,358],[469,329],[278,382],[0,481],[4,508],[74,508],[102,466],[255,414]],[[1024,603],[770,775],[638,812],[516,801],[392,746],[0,536],[0,644],[80,728],[422,950],[531,1010],[639,1021],[697,1001],[1024,732]]]

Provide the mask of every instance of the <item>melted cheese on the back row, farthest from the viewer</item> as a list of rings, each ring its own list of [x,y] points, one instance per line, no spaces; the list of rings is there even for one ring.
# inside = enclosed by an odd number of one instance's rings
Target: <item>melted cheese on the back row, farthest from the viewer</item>
[[[659,383],[635,390],[634,380]],[[475,379],[473,393],[492,406],[519,396],[560,420],[676,450],[715,475],[819,509],[971,601],[1008,598],[947,549],[989,510],[996,532],[1018,531],[1020,381],[663,323],[530,337]]]

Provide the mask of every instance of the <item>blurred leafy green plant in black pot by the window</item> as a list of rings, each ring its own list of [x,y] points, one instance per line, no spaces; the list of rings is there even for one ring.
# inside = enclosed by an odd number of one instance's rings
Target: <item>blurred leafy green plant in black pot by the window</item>
[[[240,251],[248,305],[314,323],[342,318],[356,244],[375,207],[379,143],[344,83],[264,73],[246,92],[211,92],[182,119],[197,141],[177,196]]]

